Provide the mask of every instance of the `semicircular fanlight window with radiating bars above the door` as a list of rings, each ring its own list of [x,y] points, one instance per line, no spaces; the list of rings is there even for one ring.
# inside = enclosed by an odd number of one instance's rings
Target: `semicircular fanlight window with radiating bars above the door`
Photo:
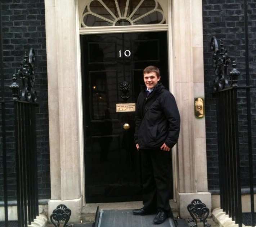
[[[92,0],[81,17],[81,27],[136,24],[165,24],[157,0]]]

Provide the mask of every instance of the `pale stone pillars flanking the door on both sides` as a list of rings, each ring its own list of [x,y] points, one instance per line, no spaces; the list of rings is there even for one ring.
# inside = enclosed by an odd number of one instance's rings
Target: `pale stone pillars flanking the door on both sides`
[[[49,214],[59,203],[66,203],[72,209],[73,222],[80,222],[85,188],[77,1],[45,0]],[[185,216],[187,201],[193,198],[201,198],[211,208],[211,195],[207,192],[205,119],[194,117],[193,106],[195,97],[204,97],[202,1],[170,0],[168,3],[170,90],[181,115],[180,138],[173,153],[174,191],[180,213]]]

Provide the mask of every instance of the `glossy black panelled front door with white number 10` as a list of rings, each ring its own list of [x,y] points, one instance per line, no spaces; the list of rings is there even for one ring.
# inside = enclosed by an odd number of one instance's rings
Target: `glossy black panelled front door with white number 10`
[[[135,112],[117,112],[116,104],[136,103],[148,65],[160,68],[161,82],[169,87],[167,33],[80,38],[86,203],[141,200],[140,153],[133,137]],[[122,91],[125,87],[130,90]],[[130,128],[125,130],[124,124]]]

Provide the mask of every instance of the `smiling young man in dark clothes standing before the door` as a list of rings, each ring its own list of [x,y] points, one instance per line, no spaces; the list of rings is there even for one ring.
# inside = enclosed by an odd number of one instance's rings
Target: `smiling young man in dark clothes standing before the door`
[[[157,213],[153,222],[170,216],[169,184],[171,148],[178,141],[180,115],[174,96],[159,82],[160,71],[148,66],[143,71],[146,88],[136,103],[135,144],[142,155],[143,205],[134,215]]]

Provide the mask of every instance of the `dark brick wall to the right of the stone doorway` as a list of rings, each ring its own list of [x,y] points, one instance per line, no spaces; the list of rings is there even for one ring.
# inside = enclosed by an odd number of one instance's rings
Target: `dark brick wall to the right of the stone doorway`
[[[203,0],[203,42],[205,68],[205,108],[208,189],[219,189],[216,106],[213,92],[214,72],[210,40],[216,36],[223,39],[232,60],[241,72],[238,85],[246,85],[244,0]],[[256,0],[248,0],[248,43],[250,61],[250,85],[256,84]],[[247,117],[244,91],[238,94],[239,144],[241,153],[242,186],[248,186]],[[252,98],[252,134],[255,141],[255,92]],[[256,148],[253,142],[253,147]],[[255,153],[255,149],[253,150]],[[256,163],[255,163],[256,164]]]

